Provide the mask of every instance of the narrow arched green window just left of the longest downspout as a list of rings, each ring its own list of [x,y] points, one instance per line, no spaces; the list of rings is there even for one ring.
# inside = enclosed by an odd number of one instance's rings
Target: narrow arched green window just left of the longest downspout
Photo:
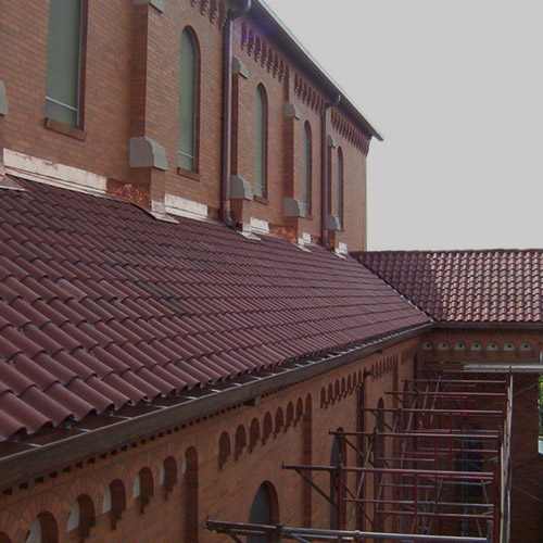
[[[192,36],[189,30],[184,30],[179,71],[177,164],[189,172],[194,172],[197,167],[197,49]]]

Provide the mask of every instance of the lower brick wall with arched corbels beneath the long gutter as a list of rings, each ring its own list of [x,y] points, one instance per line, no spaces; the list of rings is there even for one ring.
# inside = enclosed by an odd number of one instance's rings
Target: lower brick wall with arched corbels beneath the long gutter
[[[412,376],[413,357],[409,353],[414,352],[416,344],[416,340],[411,340],[382,354],[272,393],[264,396],[257,406],[240,405],[213,417],[204,417],[178,431],[128,444],[126,450],[119,447],[103,457],[81,458],[79,466],[60,469],[51,477],[37,481],[30,477],[27,484],[0,497],[0,533],[4,531],[13,543],[24,541],[28,526],[36,515],[45,510],[50,512],[58,522],[59,541],[75,543],[78,541],[77,529],[66,532],[70,510],[79,495],[88,494],[94,504],[96,526],[85,541],[226,542],[227,538],[203,529],[205,519],[247,521],[254,494],[264,481],[272,482],[277,490],[278,513],[282,522],[290,526],[311,522],[314,527],[327,527],[328,503],[312,492],[313,507],[308,508],[307,489],[302,479],[295,472],[281,469],[281,464],[313,462],[328,465],[332,443],[328,432],[339,427],[356,429],[361,387],[365,383],[365,405],[375,407],[380,397],[384,397],[387,406],[392,405],[384,390],[393,387],[396,372],[402,377]],[[395,367],[397,370],[394,370]],[[364,380],[364,371],[371,369],[375,377]],[[282,424],[276,428],[276,420],[280,419],[277,417],[279,409],[283,414]],[[267,414],[273,420],[273,432],[263,442]],[[369,416],[366,415],[366,418],[367,428],[371,429]],[[260,427],[260,439],[253,444],[250,437],[254,420]],[[237,454],[235,442],[240,428],[245,432],[247,444],[238,447]],[[228,433],[231,446],[230,454],[220,465],[218,444],[223,432]],[[312,445],[311,449],[308,445]],[[195,467],[190,463],[184,467],[188,451],[198,456]],[[165,498],[164,488],[159,484],[159,473],[168,456],[175,458],[178,475],[177,482]],[[351,465],[356,463],[352,451],[346,457]],[[152,472],[154,495],[140,514],[132,489],[139,470],[144,467]],[[194,472],[198,473],[197,491]],[[115,530],[112,530],[109,514],[102,514],[102,504],[108,485],[115,479],[125,484],[127,508]],[[316,480],[328,489],[327,476],[316,477]],[[192,495],[188,494],[190,488],[193,489]]]

